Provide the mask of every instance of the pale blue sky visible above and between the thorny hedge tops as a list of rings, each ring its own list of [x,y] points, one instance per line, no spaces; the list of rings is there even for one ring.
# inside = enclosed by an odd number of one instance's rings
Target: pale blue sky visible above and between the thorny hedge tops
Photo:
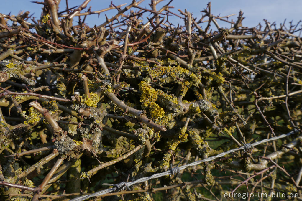
[[[69,7],[81,5],[82,2],[84,2],[84,0],[69,0]],[[110,5],[110,2],[111,0],[91,0],[88,4],[88,7],[92,6],[92,11],[101,10],[103,8],[107,8]],[[161,2],[157,6],[157,8],[161,8],[167,2],[168,0]],[[129,5],[131,3],[131,0],[113,0],[113,3],[115,5],[120,5],[123,3],[127,3],[127,5]],[[140,4],[140,6],[149,9],[149,3],[150,0],[145,0],[143,3]],[[204,10],[204,8],[207,7],[207,3],[208,1],[201,0],[174,0],[170,5],[175,7],[171,9],[172,12],[179,14],[179,11],[177,11],[177,9],[181,9],[182,11],[184,11],[186,8],[188,11],[193,13],[193,17],[196,17],[199,20],[202,15],[200,11]],[[225,16],[228,14],[236,14],[235,16],[230,18],[234,20],[236,20],[239,11],[242,10],[245,17],[243,21],[243,26],[247,27],[256,26],[259,22],[261,24],[264,24],[263,19],[267,19],[271,23],[276,21],[278,25],[277,27],[280,26],[280,23],[283,23],[285,18],[287,19],[286,25],[288,25],[291,20],[293,20],[294,23],[297,23],[300,19],[302,19],[302,1],[300,0],[216,0],[212,1],[211,5],[213,15],[220,14],[220,16]],[[41,7],[42,5],[31,3],[28,0],[2,0],[0,12],[8,14],[11,11],[11,14],[17,15],[19,11],[30,11],[31,14],[34,13],[34,16],[39,18],[41,13]],[[65,0],[62,0],[60,3],[59,11],[63,11],[65,10],[65,8]],[[106,11],[104,13],[108,16],[108,18],[111,18],[117,13],[117,11],[111,10]],[[101,13],[99,17],[97,14],[89,16],[86,19],[86,23],[90,26],[94,26],[95,24],[102,24],[105,21],[104,13]],[[180,22],[180,24],[183,23],[183,21],[179,21],[178,18],[172,17],[170,18],[170,21],[175,25],[177,25],[178,22]],[[221,27],[229,27],[229,24],[224,23],[222,21],[218,20],[218,23]],[[201,24],[202,27],[206,27],[206,25],[206,23]],[[298,28],[300,28],[300,26]]]

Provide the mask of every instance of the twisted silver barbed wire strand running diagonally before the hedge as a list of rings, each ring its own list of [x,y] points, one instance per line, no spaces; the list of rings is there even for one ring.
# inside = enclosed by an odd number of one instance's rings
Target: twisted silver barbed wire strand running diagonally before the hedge
[[[287,137],[287,136],[290,136],[291,134],[297,132],[298,130],[294,130],[294,131],[291,131],[291,132],[288,132],[287,134],[282,134],[278,137],[272,137],[272,138],[269,138],[269,139],[263,139],[259,142],[254,142],[252,144],[248,143],[249,146],[257,146],[259,144],[262,144],[262,143],[265,143],[265,142],[269,142],[269,141],[273,141],[273,140],[277,140],[277,139],[281,139],[281,138],[284,138],[284,137]],[[216,156],[211,156],[209,158],[205,158],[205,159],[202,159],[202,160],[199,160],[199,161],[194,161],[192,163],[189,163],[189,164],[186,164],[186,165],[183,165],[183,166],[180,166],[180,167],[175,167],[177,168],[178,170],[184,170],[188,167],[191,167],[191,166],[194,166],[194,165],[198,165],[198,164],[201,164],[203,162],[206,162],[206,161],[213,161],[214,159],[216,158],[221,158],[227,154],[231,154],[231,153],[234,153],[234,152],[237,152],[239,150],[243,150],[243,149],[246,149],[246,147],[249,147],[247,146],[247,144],[243,144],[243,146],[239,147],[239,148],[235,148],[235,149],[231,149],[227,152],[223,152],[223,153],[220,153]],[[156,179],[156,178],[159,178],[159,177],[163,177],[163,176],[167,176],[167,175],[172,175],[172,174],[175,174],[175,173],[178,173],[179,171],[175,171],[174,168],[171,167],[171,169],[169,171],[165,171],[165,172],[162,172],[162,173],[156,173],[156,174],[153,174],[152,176],[149,176],[149,177],[142,177],[138,180],[135,180],[135,181],[131,181],[131,182],[120,182],[118,184],[115,184],[114,187],[112,188],[108,188],[108,189],[104,189],[104,190],[100,190],[98,192],[95,192],[95,193],[92,193],[90,195],[85,195],[85,196],[80,196],[80,197],[77,197],[77,198],[74,198],[74,199],[71,199],[70,201],[82,201],[82,200],[85,200],[85,199],[88,199],[88,198],[91,198],[91,197],[95,197],[95,196],[101,196],[101,195],[104,195],[106,193],[111,193],[117,189],[121,189],[123,188],[124,186],[127,186],[127,187],[130,187],[134,184],[137,184],[137,183],[142,183],[142,182],[145,182],[145,181],[148,181],[148,180],[151,180],[151,179]],[[118,188],[119,187],[119,188]]]

